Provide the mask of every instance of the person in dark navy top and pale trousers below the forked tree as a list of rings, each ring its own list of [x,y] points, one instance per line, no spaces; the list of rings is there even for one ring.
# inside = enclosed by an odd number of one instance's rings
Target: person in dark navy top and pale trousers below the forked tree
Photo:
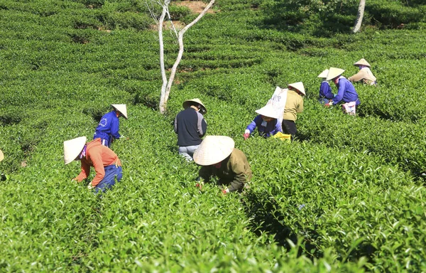
[[[197,98],[185,100],[182,106],[184,110],[179,112],[175,118],[178,151],[180,156],[183,156],[186,161],[192,161],[192,156],[207,131],[207,122],[203,117],[203,114],[207,113],[207,109],[201,100]]]

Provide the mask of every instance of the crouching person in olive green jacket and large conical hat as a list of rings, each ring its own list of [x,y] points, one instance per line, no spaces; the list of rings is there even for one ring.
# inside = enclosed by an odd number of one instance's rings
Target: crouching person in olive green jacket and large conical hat
[[[219,178],[222,193],[241,192],[250,181],[252,173],[246,156],[234,148],[234,140],[224,136],[207,136],[194,154],[195,163],[201,165],[200,183],[209,182],[212,176]]]

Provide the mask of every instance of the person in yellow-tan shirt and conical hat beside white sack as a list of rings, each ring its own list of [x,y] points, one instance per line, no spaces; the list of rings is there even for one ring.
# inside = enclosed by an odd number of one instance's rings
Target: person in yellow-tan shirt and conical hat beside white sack
[[[291,139],[297,134],[296,119],[297,113],[303,111],[303,96],[305,96],[305,87],[302,82],[290,83],[288,85],[287,100],[283,114],[283,123],[281,128],[284,134],[291,134]]]

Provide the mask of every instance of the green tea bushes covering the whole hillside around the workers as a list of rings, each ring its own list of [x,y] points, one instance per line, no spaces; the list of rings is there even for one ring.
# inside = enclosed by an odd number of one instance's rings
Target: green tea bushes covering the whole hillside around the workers
[[[185,33],[162,115],[145,1],[0,0],[0,272],[426,272],[426,4],[366,2],[351,34],[356,0],[217,0]],[[378,86],[354,84],[357,116],[322,107],[317,75],[349,77],[360,58]],[[244,141],[275,87],[299,81],[298,139]],[[207,134],[249,159],[245,193],[195,188],[172,126],[194,97]],[[64,165],[63,141],[91,139],[119,103],[124,177],[99,198],[71,181],[80,163]]]

